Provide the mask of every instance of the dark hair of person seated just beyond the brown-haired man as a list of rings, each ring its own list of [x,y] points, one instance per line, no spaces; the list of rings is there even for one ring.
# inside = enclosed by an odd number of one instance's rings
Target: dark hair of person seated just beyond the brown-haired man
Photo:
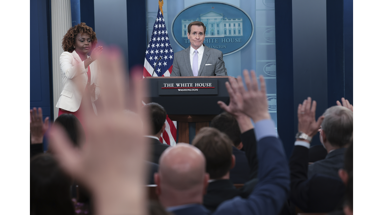
[[[211,120],[210,127],[216,128],[220,132],[226,134],[235,147],[241,143],[241,131],[238,122],[230,113],[223,112],[215,116],[213,120]]]

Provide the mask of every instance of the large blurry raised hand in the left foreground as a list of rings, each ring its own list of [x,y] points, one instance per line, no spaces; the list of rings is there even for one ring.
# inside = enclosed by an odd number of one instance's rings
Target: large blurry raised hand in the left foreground
[[[106,52],[106,59],[100,58],[101,66],[108,68],[100,77],[100,86],[105,89],[100,99],[104,108],[95,116],[91,107],[85,107],[89,109],[84,111],[87,142],[76,149],[62,128],[53,127],[50,144],[63,169],[93,193],[97,214],[146,214],[146,118],[124,111],[122,56],[117,50]],[[142,69],[140,76],[133,77],[137,107],[145,89],[141,78]]]

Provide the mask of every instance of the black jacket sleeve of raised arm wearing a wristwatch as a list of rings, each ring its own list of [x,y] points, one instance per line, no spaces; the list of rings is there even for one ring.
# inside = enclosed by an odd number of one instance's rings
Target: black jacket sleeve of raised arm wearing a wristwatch
[[[290,158],[291,201],[306,213],[335,210],[345,193],[343,182],[334,177],[314,174],[307,177],[309,149],[294,146]]]

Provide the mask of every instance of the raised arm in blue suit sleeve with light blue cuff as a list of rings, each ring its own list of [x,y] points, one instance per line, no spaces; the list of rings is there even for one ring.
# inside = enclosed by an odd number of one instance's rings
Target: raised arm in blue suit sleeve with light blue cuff
[[[226,88],[235,95],[238,108],[252,118],[257,138],[259,181],[248,199],[239,197],[222,203],[216,214],[255,214],[278,215],[289,192],[289,169],[282,142],[277,138],[274,122],[267,110],[266,85],[260,76],[260,90],[255,72],[243,72],[248,91],[243,87],[242,79],[229,78]]]

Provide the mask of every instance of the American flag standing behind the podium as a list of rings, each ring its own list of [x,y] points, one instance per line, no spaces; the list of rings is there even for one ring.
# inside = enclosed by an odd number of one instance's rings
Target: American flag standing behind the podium
[[[165,20],[160,4],[156,22],[153,26],[152,37],[146,49],[143,78],[158,76],[170,76],[173,68],[174,51],[170,46],[168,31],[166,30]],[[159,60],[160,59],[160,60]],[[157,65],[156,65],[157,63]],[[156,71],[154,69],[156,68]],[[154,73],[153,73],[154,71]],[[177,121],[172,121],[166,117],[166,128],[162,133],[160,142],[168,145],[176,145]]]

